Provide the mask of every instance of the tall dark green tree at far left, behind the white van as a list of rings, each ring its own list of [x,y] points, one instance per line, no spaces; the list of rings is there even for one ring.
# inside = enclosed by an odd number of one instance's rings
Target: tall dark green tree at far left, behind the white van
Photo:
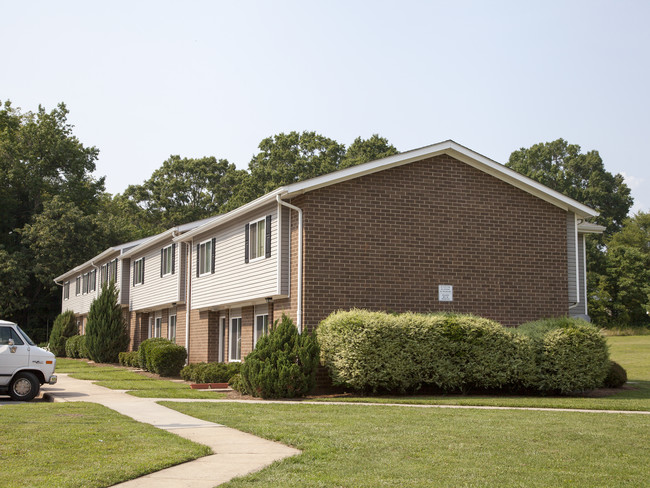
[[[60,310],[60,291],[52,283],[56,275],[45,271],[53,269],[42,259],[47,253],[33,248],[30,226],[62,205],[96,214],[104,190],[104,179],[92,176],[99,151],[75,137],[67,115],[64,104],[22,113],[0,103],[0,316],[19,322],[37,341]],[[71,246],[67,252],[76,264],[90,257]]]

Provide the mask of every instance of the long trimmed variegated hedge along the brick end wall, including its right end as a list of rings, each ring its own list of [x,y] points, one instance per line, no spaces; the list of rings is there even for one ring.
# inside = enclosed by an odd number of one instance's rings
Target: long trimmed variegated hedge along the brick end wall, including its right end
[[[317,334],[333,383],[363,391],[566,394],[602,386],[609,368],[605,338],[569,318],[517,330],[473,315],[351,310],[331,314]]]

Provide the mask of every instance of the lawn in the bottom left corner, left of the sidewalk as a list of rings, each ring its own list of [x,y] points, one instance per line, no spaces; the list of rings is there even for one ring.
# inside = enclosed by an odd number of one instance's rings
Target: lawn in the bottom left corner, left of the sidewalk
[[[0,407],[4,488],[104,487],[210,454],[92,403]]]

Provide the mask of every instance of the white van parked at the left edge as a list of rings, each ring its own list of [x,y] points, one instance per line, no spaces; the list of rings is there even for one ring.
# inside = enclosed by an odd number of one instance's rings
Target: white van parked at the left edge
[[[41,349],[13,322],[0,320],[0,394],[27,402],[41,385],[56,383],[54,354]]]

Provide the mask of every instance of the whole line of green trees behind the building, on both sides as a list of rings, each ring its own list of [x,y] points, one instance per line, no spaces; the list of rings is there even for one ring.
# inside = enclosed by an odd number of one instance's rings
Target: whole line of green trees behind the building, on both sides
[[[53,279],[119,243],[235,209],[279,186],[397,154],[373,135],[349,146],[315,132],[263,139],[247,170],[214,156],[172,155],[142,184],[106,192],[99,149],[85,146],[61,103],[0,104],[0,318],[44,340],[60,312]],[[560,139],[512,153],[507,166],[601,212],[588,239],[590,314],[600,325],[647,324],[650,215],[629,216],[630,189],[597,151]]]

